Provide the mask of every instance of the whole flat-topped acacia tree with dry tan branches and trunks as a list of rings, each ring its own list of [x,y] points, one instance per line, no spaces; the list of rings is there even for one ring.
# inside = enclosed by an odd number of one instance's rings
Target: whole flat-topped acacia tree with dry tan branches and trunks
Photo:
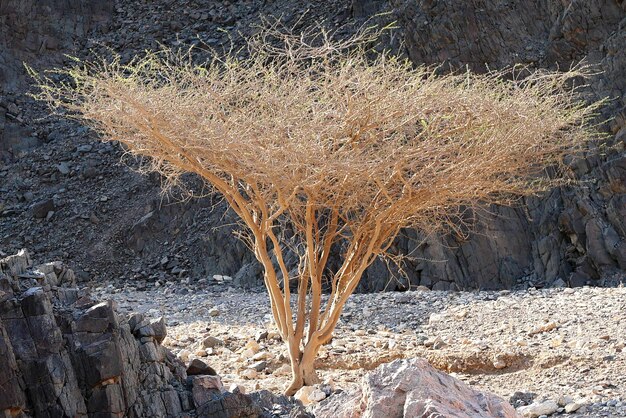
[[[39,98],[103,140],[151,157],[168,179],[195,173],[224,197],[263,266],[293,394],[318,381],[318,350],[401,228],[454,226],[462,208],[553,185],[546,167],[595,137],[598,104],[568,87],[576,71],[437,75],[372,56],[363,38],[275,46],[265,35],[245,58],[195,65],[161,51],[127,65],[77,62],[60,71],[67,82],[36,78]]]

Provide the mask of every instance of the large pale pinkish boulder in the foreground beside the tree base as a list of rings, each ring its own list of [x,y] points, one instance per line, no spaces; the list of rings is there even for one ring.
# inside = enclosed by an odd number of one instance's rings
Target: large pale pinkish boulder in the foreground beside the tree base
[[[333,418],[518,417],[504,399],[479,392],[426,360],[396,360],[363,378],[353,392],[333,395],[315,410]]]

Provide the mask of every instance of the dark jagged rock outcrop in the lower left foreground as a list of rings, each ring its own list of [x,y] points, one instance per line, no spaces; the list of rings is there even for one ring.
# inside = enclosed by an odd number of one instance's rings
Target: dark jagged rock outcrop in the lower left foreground
[[[161,342],[163,318],[126,318],[76,288],[62,263],[0,260],[0,416],[259,417],[269,392],[225,391],[204,365],[187,378]],[[198,369],[198,367],[196,367]],[[265,408],[265,409],[264,409]]]

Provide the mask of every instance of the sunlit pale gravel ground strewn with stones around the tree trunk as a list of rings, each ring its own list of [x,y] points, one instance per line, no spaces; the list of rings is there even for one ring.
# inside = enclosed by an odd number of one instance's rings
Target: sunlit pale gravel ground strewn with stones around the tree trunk
[[[165,316],[164,344],[183,361],[202,358],[227,386],[281,391],[289,381],[263,291],[214,280],[92,291],[122,311]],[[383,362],[419,356],[515,406],[571,398],[584,406],[569,416],[622,417],[625,331],[623,287],[359,294],[321,350],[318,368],[322,379],[345,390]]]

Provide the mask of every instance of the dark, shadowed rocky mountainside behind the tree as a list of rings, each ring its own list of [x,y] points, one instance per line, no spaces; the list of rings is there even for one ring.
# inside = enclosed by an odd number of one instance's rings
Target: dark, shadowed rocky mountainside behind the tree
[[[404,274],[391,275],[377,262],[360,290],[610,284],[626,268],[625,7],[616,0],[4,1],[0,246],[67,260],[79,277],[123,276],[139,286],[214,274],[259,284],[258,264],[233,236],[219,200],[163,199],[158,178],[118,164],[122,150],[62,119],[39,120],[45,110],[24,97],[20,60],[42,68],[61,63],[60,52],[86,57],[86,47],[98,45],[126,58],[159,42],[219,48],[240,42],[260,15],[295,23],[307,9],[301,25],[325,20],[349,31],[389,11],[400,26],[392,45],[403,34],[413,61],[442,71],[516,63],[564,68],[582,59],[596,65],[602,72],[588,91],[614,98],[605,109],[614,117],[608,127],[614,148],[571,161],[572,176],[584,181],[579,186],[476,214],[467,237],[406,231],[394,248],[412,257]]]

